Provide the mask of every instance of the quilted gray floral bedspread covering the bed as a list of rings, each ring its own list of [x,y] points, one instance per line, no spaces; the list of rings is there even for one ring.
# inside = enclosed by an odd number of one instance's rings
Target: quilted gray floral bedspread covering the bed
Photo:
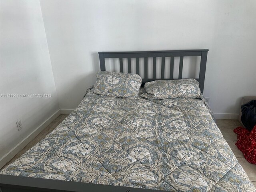
[[[167,191],[255,192],[200,99],[89,91],[1,174]]]

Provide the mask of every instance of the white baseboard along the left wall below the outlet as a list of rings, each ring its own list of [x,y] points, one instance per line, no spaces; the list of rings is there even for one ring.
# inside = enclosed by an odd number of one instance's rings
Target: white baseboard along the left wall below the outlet
[[[20,150],[22,150],[30,141],[32,141],[46,126],[48,126],[54,119],[60,115],[60,110],[57,110],[52,116],[46,119],[40,126],[38,126],[32,133],[30,133],[26,138],[19,142],[14,148],[12,148],[6,155],[0,159],[0,168],[2,168],[6,163],[8,163]]]

